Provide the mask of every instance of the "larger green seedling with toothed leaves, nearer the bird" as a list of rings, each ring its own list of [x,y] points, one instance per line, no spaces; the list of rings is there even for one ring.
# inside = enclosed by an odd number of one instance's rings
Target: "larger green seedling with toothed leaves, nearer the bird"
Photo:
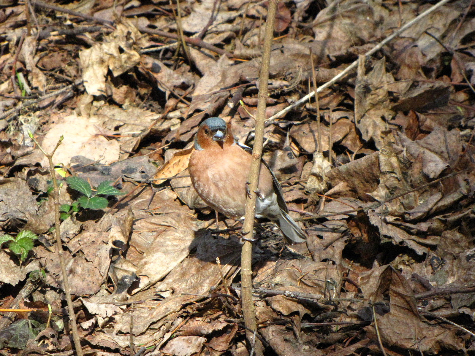
[[[81,197],[77,198],[74,203],[71,205],[63,204],[59,207],[59,210],[62,211],[60,217],[65,220],[71,214],[78,212],[80,208],[83,209],[104,209],[107,207],[109,201],[104,197],[99,196],[109,196],[109,195],[121,195],[122,193],[112,187],[111,181],[101,182],[93,194],[91,185],[79,177],[68,177],[66,182],[71,189],[77,190],[79,193],[83,194]]]

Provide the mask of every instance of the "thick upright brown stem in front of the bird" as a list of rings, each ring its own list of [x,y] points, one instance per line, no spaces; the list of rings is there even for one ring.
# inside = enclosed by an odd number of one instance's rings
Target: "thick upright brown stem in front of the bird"
[[[259,181],[259,171],[261,166],[262,143],[264,141],[264,122],[266,120],[266,98],[267,82],[269,79],[270,49],[272,36],[274,34],[274,23],[276,19],[277,1],[270,0],[267,10],[266,30],[264,35],[264,47],[262,51],[261,73],[259,75],[259,94],[257,94],[257,115],[256,115],[256,135],[254,138],[254,148],[252,150],[251,170],[249,172],[250,197],[246,199],[246,214],[243,230],[247,231],[241,253],[241,303],[246,326],[246,337],[250,346],[257,356],[262,355],[262,344],[256,337],[256,316],[254,303],[252,301],[252,231],[254,227],[254,214],[256,210],[256,199]],[[247,241],[246,241],[247,240]],[[252,356],[252,355],[251,355]]]

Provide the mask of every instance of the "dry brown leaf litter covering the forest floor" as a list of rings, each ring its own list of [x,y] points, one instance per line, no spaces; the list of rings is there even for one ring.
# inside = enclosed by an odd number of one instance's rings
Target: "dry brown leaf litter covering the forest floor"
[[[240,223],[215,221],[187,166],[206,117],[253,144],[266,2],[50,5],[0,9],[0,306],[35,306],[1,312],[2,355],[72,347],[49,164],[28,131],[47,151],[64,136],[61,239],[84,352],[249,355]],[[430,6],[279,3],[267,118],[358,65],[265,131],[308,235],[286,246],[257,227],[268,355],[475,352],[475,7],[447,3],[364,56]],[[103,205],[73,208],[96,194]],[[22,234],[38,238],[18,249]]]

